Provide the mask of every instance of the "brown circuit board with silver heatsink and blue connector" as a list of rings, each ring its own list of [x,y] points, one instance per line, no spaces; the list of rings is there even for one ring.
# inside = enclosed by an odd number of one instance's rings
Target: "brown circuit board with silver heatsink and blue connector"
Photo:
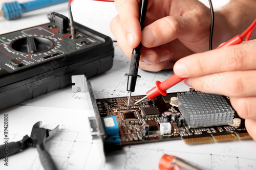
[[[184,96],[188,101],[183,100]],[[251,138],[244,120],[226,96],[191,89],[146,99],[134,106],[143,97],[132,96],[129,108],[127,97],[96,100],[106,133],[105,144],[130,145],[174,139],[183,139],[186,144],[200,144]],[[194,97],[201,98],[202,102],[195,101]],[[176,99],[176,103],[172,99]],[[190,112],[195,106],[199,108]]]

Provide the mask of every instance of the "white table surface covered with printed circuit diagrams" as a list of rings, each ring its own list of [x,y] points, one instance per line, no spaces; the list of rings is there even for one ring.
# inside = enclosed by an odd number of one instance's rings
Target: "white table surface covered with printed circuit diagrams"
[[[0,1],[3,2],[3,1]],[[204,1],[203,1],[204,2]],[[205,1],[207,3],[208,1]],[[226,3],[227,1],[222,1]],[[58,12],[67,16],[67,4],[60,4],[25,13],[22,18],[13,21],[0,20],[0,34],[40,25],[48,22],[47,13]],[[117,12],[112,3],[76,0],[72,4],[74,20],[99,31],[114,36],[109,23]],[[91,78],[95,98],[127,96],[126,77],[130,60],[115,44],[114,66],[110,71]],[[155,81],[163,81],[173,72],[146,72],[139,70],[136,94],[154,87]],[[108,82],[102,86],[102,82]],[[186,91],[184,83],[172,87],[168,92]],[[60,169],[158,169],[159,159],[163,154],[176,155],[194,162],[205,169],[255,169],[256,145],[252,140],[186,145],[182,140],[159,143],[140,144],[125,147],[123,153],[104,157],[102,142],[92,140],[87,117],[90,113],[86,107],[87,98],[83,93],[72,93],[71,86],[41,95],[21,105],[0,112],[0,127],[3,116],[9,116],[10,141],[20,140],[30,134],[33,124],[42,120],[43,125],[51,129],[57,124],[60,131],[46,149],[52,155]],[[3,129],[0,129],[0,140]],[[29,149],[9,157],[9,166],[1,160],[0,169],[42,169],[35,149]]]

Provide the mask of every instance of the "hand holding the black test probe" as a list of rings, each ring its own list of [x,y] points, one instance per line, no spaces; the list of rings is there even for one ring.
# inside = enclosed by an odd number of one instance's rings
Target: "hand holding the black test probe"
[[[150,71],[173,68],[174,61],[208,50],[210,10],[197,0],[148,0],[145,28],[138,20],[139,0],[116,0],[119,12],[111,30],[126,56],[141,41],[140,68]],[[227,22],[215,14],[214,47],[231,38]],[[173,62],[172,62],[173,61]]]

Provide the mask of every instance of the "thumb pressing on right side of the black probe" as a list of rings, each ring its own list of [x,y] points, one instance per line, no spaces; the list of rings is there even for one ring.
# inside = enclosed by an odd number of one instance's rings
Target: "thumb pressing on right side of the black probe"
[[[186,36],[194,27],[187,16],[166,16],[143,29],[141,42],[145,47],[156,47]]]

